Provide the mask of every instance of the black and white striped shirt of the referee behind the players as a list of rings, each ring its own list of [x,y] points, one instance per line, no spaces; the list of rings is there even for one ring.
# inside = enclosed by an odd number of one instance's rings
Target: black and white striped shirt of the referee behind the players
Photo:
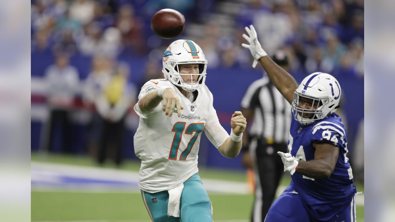
[[[291,105],[271,83],[269,77],[254,81],[241,101],[241,107],[254,111],[254,121],[249,130],[252,137],[274,143],[287,143]]]

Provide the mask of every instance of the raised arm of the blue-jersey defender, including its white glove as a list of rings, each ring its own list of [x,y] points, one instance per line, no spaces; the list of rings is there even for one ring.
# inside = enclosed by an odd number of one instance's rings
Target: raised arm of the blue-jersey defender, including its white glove
[[[267,56],[267,53],[262,49],[261,44],[258,41],[258,36],[254,26],[250,25],[250,28],[245,27],[245,30],[248,33],[248,36],[243,34],[243,37],[248,41],[249,45],[243,43],[241,46],[250,49],[252,56],[254,56],[255,60],[252,67],[255,68],[259,61],[278,91],[281,92],[289,103],[292,103],[293,92],[298,87],[295,79],[292,75],[273,62],[269,56]]]

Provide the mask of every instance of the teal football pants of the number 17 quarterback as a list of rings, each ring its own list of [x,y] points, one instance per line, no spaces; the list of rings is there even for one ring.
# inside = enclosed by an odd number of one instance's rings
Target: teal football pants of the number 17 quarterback
[[[211,201],[198,173],[184,182],[180,199],[180,217],[167,216],[167,190],[156,193],[141,190],[141,197],[153,222],[213,222]]]

